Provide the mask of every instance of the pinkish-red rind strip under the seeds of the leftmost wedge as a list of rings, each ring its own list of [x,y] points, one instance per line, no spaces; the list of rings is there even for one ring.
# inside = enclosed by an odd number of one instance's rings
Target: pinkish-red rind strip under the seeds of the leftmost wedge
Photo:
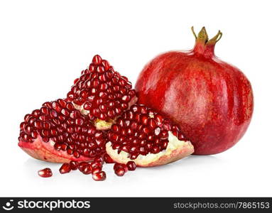
[[[93,158],[80,156],[75,158],[73,155],[68,155],[66,151],[57,151],[54,148],[54,141],[45,143],[43,139],[38,136],[32,143],[19,141],[18,146],[31,157],[38,160],[48,161],[51,163],[70,163],[71,160],[75,161],[89,161]]]

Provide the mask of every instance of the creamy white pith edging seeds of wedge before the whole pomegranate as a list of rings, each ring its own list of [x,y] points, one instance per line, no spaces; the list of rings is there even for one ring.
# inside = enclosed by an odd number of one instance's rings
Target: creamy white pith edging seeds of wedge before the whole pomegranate
[[[132,161],[134,161],[136,165],[144,166],[158,160],[159,158],[163,156],[171,155],[173,151],[177,149],[182,149],[183,147],[184,148],[189,147],[189,148],[192,148],[193,150],[193,146],[190,141],[179,141],[178,138],[174,136],[173,133],[170,131],[168,131],[168,141],[169,141],[168,146],[165,150],[156,154],[148,153],[147,155],[138,155],[138,157]],[[131,159],[129,158],[129,153],[126,153],[124,151],[121,151],[120,153],[118,153],[117,149],[113,149],[111,147],[110,141],[106,144],[106,151],[107,153],[110,153],[113,158],[118,158],[120,162],[122,163],[127,163],[128,161],[131,161]]]

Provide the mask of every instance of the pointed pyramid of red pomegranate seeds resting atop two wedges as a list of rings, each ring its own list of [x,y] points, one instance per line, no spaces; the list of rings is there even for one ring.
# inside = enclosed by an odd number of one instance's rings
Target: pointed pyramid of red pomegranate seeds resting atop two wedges
[[[129,108],[136,93],[131,82],[114,71],[107,60],[95,55],[87,70],[82,71],[67,99],[84,109],[90,120],[109,121]]]

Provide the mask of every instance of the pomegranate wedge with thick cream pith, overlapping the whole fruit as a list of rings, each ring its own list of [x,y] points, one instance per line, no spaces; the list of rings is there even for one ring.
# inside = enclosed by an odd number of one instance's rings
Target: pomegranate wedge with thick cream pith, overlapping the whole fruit
[[[194,151],[177,125],[141,104],[134,104],[116,119],[108,138],[106,151],[114,161],[134,161],[141,167],[170,163]]]

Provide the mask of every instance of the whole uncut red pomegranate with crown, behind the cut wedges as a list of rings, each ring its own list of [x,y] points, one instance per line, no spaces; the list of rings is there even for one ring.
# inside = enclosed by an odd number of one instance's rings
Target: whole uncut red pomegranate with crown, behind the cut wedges
[[[238,68],[219,60],[205,27],[195,48],[158,55],[136,82],[138,102],[161,111],[192,141],[196,155],[226,151],[244,135],[253,112],[251,84]]]

